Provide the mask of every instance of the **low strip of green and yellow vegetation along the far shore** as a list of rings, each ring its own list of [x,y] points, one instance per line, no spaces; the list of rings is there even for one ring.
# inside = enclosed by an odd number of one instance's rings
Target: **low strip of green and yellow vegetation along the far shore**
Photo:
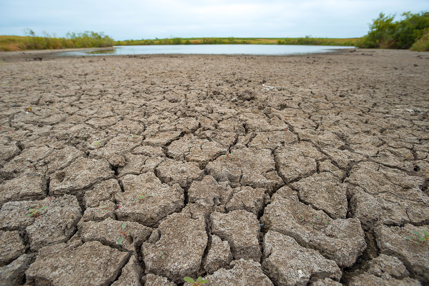
[[[203,45],[203,44],[262,44],[262,45],[349,45],[353,46],[357,38],[166,38],[116,41],[115,45]]]

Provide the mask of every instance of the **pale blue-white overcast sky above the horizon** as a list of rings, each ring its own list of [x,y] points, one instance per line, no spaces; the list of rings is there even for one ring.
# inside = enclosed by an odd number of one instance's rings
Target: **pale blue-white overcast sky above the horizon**
[[[429,0],[0,0],[0,35],[85,30],[115,40],[166,37],[360,37],[385,14]]]

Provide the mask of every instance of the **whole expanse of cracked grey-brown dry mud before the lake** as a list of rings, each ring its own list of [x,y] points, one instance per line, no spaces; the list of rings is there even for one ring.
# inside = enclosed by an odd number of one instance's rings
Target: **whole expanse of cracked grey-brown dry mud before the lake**
[[[31,53],[0,53],[0,285],[429,285],[429,53]]]

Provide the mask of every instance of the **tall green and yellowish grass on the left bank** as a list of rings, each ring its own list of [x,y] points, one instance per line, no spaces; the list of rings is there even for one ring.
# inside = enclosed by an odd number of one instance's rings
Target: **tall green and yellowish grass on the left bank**
[[[65,38],[58,38],[43,33],[36,36],[32,30],[27,30],[27,36],[0,36],[0,50],[23,51],[62,48],[96,48],[112,47],[114,40],[104,33],[85,31],[83,33],[67,33]]]

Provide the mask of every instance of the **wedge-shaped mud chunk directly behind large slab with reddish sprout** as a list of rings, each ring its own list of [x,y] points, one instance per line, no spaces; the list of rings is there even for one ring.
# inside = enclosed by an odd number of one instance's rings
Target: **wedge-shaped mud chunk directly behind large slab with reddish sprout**
[[[331,173],[314,174],[290,186],[298,190],[299,199],[325,211],[332,219],[346,218],[346,187]]]

